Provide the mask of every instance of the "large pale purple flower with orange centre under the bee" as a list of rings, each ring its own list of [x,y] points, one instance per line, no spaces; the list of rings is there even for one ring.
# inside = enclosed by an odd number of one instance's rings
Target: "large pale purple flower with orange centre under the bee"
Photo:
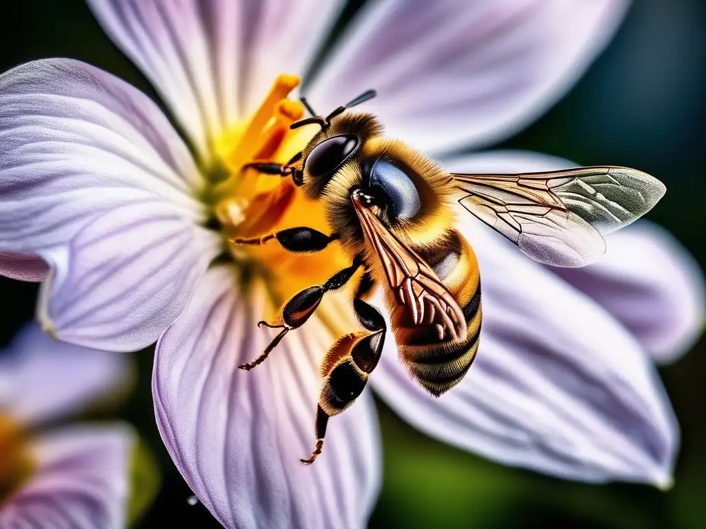
[[[298,461],[313,448],[318,365],[337,337],[330,329],[350,317],[335,312],[336,296],[256,370],[237,369],[273,336],[258,320],[349,263],[335,243],[307,257],[227,244],[280,227],[326,231],[318,204],[288,180],[240,169],[253,159],[286,162],[311,137],[288,129],[304,109],[287,99],[297,79],[280,74],[305,71],[342,4],[89,4],[186,137],[148,97],[85,63],[48,59],[0,76],[0,264],[44,280],[38,315],[61,340],[124,351],[158,339],[152,389],[162,439],[220,523],[365,525],[381,457],[368,391],[331,421],[316,464]],[[366,110],[452,169],[551,165],[537,154],[448,153],[506,138],[542,114],[626,6],[367,2],[306,94],[329,110],[375,88]],[[424,432],[496,461],[668,484],[677,426],[647,353],[695,334],[703,286],[690,257],[638,226],[616,236],[626,257],[560,276],[472,219],[459,229],[484,281],[476,363],[434,399],[407,378],[388,339],[373,388]],[[645,259],[631,259],[631,248]],[[647,270],[658,259],[674,273]],[[629,303],[645,305],[640,314],[609,295],[624,277]]]

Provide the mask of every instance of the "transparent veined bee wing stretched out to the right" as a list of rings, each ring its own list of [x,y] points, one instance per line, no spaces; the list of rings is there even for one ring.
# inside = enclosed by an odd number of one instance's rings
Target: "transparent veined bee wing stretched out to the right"
[[[463,207],[532,259],[558,267],[597,260],[602,234],[641,217],[666,191],[657,178],[611,166],[453,178]]]

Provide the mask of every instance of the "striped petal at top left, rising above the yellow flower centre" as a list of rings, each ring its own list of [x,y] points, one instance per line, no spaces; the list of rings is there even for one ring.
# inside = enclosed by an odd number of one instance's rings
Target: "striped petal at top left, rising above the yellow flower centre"
[[[208,160],[213,140],[248,116],[277,74],[303,73],[342,2],[89,0],[88,4]]]

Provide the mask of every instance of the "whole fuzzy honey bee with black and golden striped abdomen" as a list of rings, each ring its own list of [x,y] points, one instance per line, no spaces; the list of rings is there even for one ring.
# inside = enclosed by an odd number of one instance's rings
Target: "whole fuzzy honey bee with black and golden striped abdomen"
[[[481,281],[471,245],[455,226],[455,202],[484,221],[534,260],[581,267],[605,251],[603,235],[638,219],[664,195],[650,175],[616,166],[582,167],[530,174],[457,174],[383,136],[373,114],[349,112],[374,97],[369,90],[328,116],[292,124],[321,130],[287,164],[249,164],[268,174],[292,177],[304,194],[321,200],[333,233],[294,227],[236,244],[276,240],[294,253],[323,250],[338,240],[352,265],[324,284],[290,298],[273,324],[281,329],[263,354],[267,358],[287,332],[301,327],[326,292],[342,288],[364,269],[353,308],[364,331],[341,336],[325,354],[316,414],[316,449],[321,454],[328,419],[348,408],[378,364],[387,326],[363,297],[373,285],[383,298],[409,375],[440,396],[460,382],[478,350]]]

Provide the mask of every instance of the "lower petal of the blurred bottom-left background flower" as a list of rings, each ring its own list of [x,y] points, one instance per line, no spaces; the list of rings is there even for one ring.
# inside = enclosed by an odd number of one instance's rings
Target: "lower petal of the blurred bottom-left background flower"
[[[33,440],[36,472],[0,506],[0,527],[124,528],[134,442],[127,425],[67,427]]]

